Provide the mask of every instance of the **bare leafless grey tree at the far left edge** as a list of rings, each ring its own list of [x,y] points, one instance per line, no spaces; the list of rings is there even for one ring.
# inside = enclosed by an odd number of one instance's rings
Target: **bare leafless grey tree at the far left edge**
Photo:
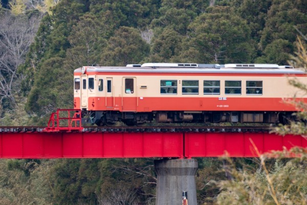
[[[5,13],[0,21],[0,106],[12,108],[19,91],[19,65],[25,62],[40,22],[40,15],[13,16]]]

